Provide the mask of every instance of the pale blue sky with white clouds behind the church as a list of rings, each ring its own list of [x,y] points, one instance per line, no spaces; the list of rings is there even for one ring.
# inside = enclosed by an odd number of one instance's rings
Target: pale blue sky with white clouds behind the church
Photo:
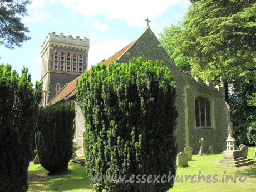
[[[0,63],[9,63],[21,72],[28,67],[32,82],[40,80],[41,45],[49,32],[88,37],[88,68],[109,58],[144,32],[147,17],[150,28],[159,37],[165,26],[183,19],[188,0],[33,0],[27,6],[29,16],[22,22],[31,37],[21,48],[9,50],[0,45]]]

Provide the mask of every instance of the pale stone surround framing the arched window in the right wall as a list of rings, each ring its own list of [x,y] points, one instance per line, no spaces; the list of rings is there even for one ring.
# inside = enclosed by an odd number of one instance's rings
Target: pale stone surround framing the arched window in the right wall
[[[198,97],[204,97],[206,99],[208,99],[208,101],[210,102],[210,116],[211,116],[211,126],[196,126],[196,114],[195,114],[195,100]],[[207,93],[200,93],[198,95],[196,95],[195,99],[194,99],[194,124],[195,124],[195,129],[215,129],[215,123],[214,123],[214,100],[211,98],[211,96],[209,96]]]

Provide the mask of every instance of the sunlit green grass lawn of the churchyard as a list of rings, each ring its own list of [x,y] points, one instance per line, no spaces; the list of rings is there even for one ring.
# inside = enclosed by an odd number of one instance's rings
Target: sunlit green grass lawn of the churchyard
[[[249,147],[248,149],[248,158],[253,159],[255,147]],[[172,191],[250,191],[256,192],[256,162],[254,165],[244,166],[240,168],[226,167],[226,166],[217,166],[213,165],[216,160],[219,160],[222,157],[221,154],[214,155],[205,155],[197,156],[193,155],[192,161],[188,161],[188,167],[183,168],[179,167],[177,170],[177,175],[180,177],[183,176],[183,182],[175,182],[174,187],[171,188],[168,192]],[[256,161],[256,159],[254,160]],[[28,191],[84,191],[92,192],[93,189],[90,186],[90,179],[86,174],[85,167],[80,165],[70,164],[68,166],[69,173],[62,175],[48,176],[47,171],[42,168],[41,165],[30,164],[28,168],[28,182],[29,189]],[[246,175],[247,178],[244,182],[237,182],[228,180],[225,182],[226,176],[233,176],[237,170],[240,170],[240,175]],[[203,178],[198,183],[191,183],[191,178],[185,183],[185,175],[196,175],[193,181],[198,180],[198,173],[201,171],[201,175],[211,175],[211,183],[206,183]],[[224,171],[226,172],[224,174]],[[218,182],[213,183],[213,176],[218,179]],[[222,178],[224,175],[224,183],[222,183]],[[209,181],[210,181],[209,179]],[[244,180],[245,178],[241,178]],[[221,182],[219,182],[219,180]]]

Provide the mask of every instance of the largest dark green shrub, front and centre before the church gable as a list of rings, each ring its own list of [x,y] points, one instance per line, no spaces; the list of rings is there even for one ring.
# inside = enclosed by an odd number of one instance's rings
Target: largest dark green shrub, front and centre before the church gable
[[[77,101],[85,116],[85,160],[88,175],[176,174],[174,129],[176,91],[164,65],[142,58],[92,67],[77,86]],[[153,179],[154,180],[154,179]],[[139,180],[136,180],[139,181]],[[167,191],[166,183],[93,184],[96,191]]]

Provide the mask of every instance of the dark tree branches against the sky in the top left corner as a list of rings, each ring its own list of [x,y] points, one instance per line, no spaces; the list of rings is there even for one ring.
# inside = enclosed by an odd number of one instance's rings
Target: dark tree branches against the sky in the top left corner
[[[25,33],[28,28],[21,22],[20,16],[27,16],[26,5],[31,0],[1,0],[0,1],[0,44],[13,49],[21,47],[24,41],[30,39]]]

